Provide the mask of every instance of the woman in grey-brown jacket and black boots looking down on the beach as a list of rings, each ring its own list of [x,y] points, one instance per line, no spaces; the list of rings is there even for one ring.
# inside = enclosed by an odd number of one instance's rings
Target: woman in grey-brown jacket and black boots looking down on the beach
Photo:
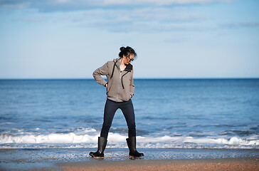
[[[122,110],[127,121],[128,135],[127,145],[129,157],[142,157],[143,153],[136,150],[136,126],[132,96],[134,95],[133,69],[130,64],[137,57],[134,49],[127,46],[120,48],[120,58],[108,61],[93,73],[97,83],[106,87],[107,100],[105,103],[105,114],[102,124],[102,131],[98,138],[97,152],[90,152],[92,157],[104,157],[104,150],[107,144],[107,136],[112,125],[112,119],[118,108]],[[107,82],[102,76],[107,77]]]

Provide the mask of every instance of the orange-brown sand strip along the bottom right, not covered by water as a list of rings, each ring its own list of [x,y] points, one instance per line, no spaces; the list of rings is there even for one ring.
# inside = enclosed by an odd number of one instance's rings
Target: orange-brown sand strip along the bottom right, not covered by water
[[[258,158],[67,162],[64,170],[259,170]]]

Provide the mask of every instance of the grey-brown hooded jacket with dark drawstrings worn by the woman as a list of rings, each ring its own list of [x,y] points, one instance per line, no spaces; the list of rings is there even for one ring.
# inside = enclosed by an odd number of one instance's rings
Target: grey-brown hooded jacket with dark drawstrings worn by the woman
[[[102,76],[106,76],[107,82]],[[118,59],[108,61],[93,72],[93,77],[102,86],[107,83],[107,98],[112,101],[128,101],[134,95],[133,67],[130,63],[124,71],[120,71]]]

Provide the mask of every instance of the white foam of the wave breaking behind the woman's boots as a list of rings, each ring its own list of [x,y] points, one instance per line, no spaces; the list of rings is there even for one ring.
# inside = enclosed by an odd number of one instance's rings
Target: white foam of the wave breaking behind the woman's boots
[[[4,144],[82,144],[87,147],[96,145],[99,134],[95,135],[75,135],[68,134],[49,134],[49,135],[0,135],[0,147]],[[110,147],[122,147],[127,136],[118,133],[109,133],[108,145]],[[258,137],[251,138],[193,138],[184,136],[162,136],[162,137],[137,137],[138,147],[144,148],[174,148],[174,147],[240,147],[240,148],[259,148]],[[124,146],[123,146],[124,147]],[[126,147],[126,146],[125,146]]]

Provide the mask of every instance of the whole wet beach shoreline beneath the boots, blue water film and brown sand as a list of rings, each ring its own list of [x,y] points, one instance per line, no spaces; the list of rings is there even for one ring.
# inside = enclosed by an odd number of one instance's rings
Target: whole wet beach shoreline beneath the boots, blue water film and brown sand
[[[88,154],[96,149],[0,149],[0,170],[258,170],[258,149],[142,149],[131,160],[128,149],[107,148],[105,158]]]

